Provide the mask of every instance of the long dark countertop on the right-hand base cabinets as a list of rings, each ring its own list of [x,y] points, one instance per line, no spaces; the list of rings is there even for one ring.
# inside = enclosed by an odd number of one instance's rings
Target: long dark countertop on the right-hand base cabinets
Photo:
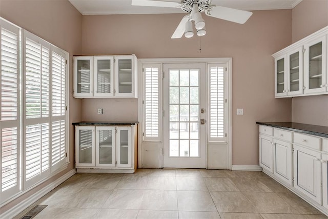
[[[304,134],[316,135],[320,137],[328,137],[327,126],[316,126],[316,125],[292,123],[292,122],[256,122],[256,124],[300,132]]]

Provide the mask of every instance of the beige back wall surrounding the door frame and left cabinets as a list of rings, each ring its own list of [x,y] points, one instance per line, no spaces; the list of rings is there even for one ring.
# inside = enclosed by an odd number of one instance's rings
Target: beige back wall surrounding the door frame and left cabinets
[[[138,58],[232,57],[234,165],[258,165],[256,121],[291,121],[291,99],[274,98],[274,52],[291,44],[291,10],[254,11],[244,25],[204,15],[207,35],[171,39],[184,14],[83,16],[83,54]],[[114,104],[115,103],[115,104]],[[96,108],[120,114],[96,115]],[[244,115],[236,115],[243,108]],[[124,109],[124,111],[120,111]],[[126,109],[130,110],[126,111]],[[83,99],[83,119],[137,120],[137,101]]]

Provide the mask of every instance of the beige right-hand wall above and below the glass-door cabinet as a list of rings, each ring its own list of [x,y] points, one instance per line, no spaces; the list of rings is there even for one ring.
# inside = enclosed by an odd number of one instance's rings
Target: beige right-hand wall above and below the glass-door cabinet
[[[303,0],[292,10],[292,41],[328,25],[327,0]],[[294,97],[292,121],[328,126],[328,95]]]

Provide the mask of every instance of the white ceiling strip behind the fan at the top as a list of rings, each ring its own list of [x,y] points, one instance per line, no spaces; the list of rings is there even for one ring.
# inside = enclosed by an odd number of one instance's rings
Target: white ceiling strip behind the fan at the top
[[[83,15],[182,13],[179,8],[132,6],[131,0],[69,0]],[[165,0],[181,2],[179,0]],[[292,9],[302,0],[212,0],[211,5],[246,11]]]

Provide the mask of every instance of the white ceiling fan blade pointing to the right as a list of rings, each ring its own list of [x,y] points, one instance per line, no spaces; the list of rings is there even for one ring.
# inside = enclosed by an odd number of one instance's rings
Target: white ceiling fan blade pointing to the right
[[[209,10],[206,11],[206,14],[211,17],[224,19],[238,24],[244,24],[253,13],[250,11],[242,11],[216,5],[209,8]]]

